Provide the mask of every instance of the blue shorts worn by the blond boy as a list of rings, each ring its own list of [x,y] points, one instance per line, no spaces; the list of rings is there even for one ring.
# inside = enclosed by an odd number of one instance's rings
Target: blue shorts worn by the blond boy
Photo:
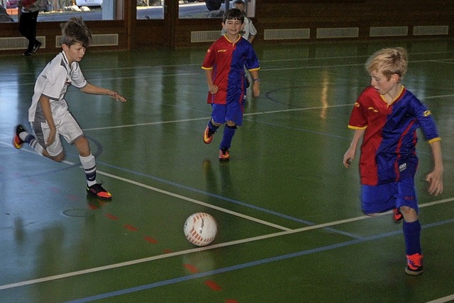
[[[419,211],[413,178],[383,185],[361,185],[361,200],[362,211],[366,215],[387,212],[402,206]]]

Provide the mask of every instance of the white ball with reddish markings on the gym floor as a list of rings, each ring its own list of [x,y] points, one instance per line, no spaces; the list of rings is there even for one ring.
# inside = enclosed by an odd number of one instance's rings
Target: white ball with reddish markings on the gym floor
[[[214,217],[206,212],[196,212],[186,219],[183,231],[189,242],[196,246],[205,246],[216,237],[218,224]]]

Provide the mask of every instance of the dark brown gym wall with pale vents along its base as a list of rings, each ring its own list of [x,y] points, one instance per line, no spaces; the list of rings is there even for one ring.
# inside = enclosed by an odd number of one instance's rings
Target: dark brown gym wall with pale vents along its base
[[[221,19],[178,19],[178,4],[162,20],[135,20],[135,1],[124,0],[121,21],[87,21],[99,50],[179,48],[209,45],[218,37]],[[253,22],[256,43],[370,40],[394,38],[451,38],[454,36],[453,0],[256,0]],[[55,52],[59,23],[38,23],[45,40],[40,52]],[[165,26],[167,24],[167,26]],[[0,23],[1,39],[20,38],[17,23]],[[11,40],[11,39],[10,39]],[[104,40],[114,41],[104,44]],[[11,42],[11,41],[9,41]]]

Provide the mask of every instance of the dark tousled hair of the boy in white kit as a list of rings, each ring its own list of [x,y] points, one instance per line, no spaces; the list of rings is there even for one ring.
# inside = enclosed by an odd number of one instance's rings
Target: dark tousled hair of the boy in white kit
[[[80,17],[72,17],[67,23],[60,24],[62,28],[62,39],[60,42],[67,46],[80,43],[83,47],[88,47],[92,40],[92,32],[87,28]]]

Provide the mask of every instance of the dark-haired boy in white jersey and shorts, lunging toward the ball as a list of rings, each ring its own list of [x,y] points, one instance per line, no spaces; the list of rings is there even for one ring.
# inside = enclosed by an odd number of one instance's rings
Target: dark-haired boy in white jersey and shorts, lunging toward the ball
[[[28,121],[35,136],[26,132],[22,125],[16,126],[13,145],[20,149],[24,142],[39,154],[60,162],[65,158],[60,136],[79,151],[79,159],[87,176],[87,193],[102,199],[112,195],[96,183],[96,161],[84,132],[68,110],[65,101],[67,87],[73,85],[84,93],[107,95],[126,102],[118,92],[89,84],[79,68],[92,33],[82,18],[71,18],[62,25],[62,52],[45,67],[35,84]]]

